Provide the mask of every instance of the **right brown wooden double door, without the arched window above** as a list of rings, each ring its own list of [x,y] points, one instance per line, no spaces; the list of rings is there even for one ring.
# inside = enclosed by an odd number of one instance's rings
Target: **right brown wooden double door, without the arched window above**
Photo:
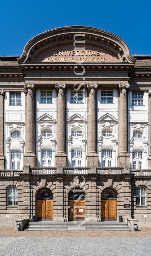
[[[116,200],[101,200],[101,220],[116,220]]]

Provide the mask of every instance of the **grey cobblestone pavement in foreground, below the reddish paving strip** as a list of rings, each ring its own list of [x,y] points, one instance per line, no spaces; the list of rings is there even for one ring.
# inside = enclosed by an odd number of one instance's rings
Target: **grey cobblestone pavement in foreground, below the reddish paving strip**
[[[150,256],[149,237],[1,237],[1,256]]]

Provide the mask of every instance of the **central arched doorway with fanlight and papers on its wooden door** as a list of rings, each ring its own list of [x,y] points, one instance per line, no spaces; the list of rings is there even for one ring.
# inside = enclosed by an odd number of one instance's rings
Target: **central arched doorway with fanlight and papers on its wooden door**
[[[68,197],[68,221],[84,221],[85,196],[80,189],[69,192]]]

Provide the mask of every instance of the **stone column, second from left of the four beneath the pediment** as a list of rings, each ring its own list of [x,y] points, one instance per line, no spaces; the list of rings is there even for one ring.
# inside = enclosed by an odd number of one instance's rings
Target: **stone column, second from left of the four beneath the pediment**
[[[57,99],[57,153],[55,154],[55,166],[66,167],[67,154],[65,152],[65,90],[66,84],[56,84]]]

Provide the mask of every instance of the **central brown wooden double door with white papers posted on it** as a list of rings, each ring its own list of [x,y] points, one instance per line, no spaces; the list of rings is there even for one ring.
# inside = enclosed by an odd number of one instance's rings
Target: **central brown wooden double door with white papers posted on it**
[[[68,200],[68,220],[85,219],[85,200]]]

